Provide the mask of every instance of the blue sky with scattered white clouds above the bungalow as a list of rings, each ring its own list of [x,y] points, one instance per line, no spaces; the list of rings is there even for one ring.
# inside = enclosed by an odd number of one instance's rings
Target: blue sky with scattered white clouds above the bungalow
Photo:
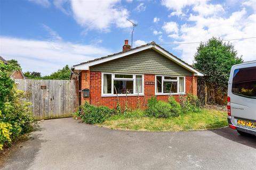
[[[155,41],[192,64],[193,43],[230,40],[244,61],[256,60],[256,0],[1,0],[0,55],[22,71],[50,74],[68,64]],[[169,44],[169,45],[166,45]],[[171,45],[170,45],[171,44]]]

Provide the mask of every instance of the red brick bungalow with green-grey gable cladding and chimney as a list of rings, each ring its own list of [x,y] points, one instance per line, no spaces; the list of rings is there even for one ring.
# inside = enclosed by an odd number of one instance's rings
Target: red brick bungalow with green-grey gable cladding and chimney
[[[147,105],[151,96],[167,101],[173,95],[197,95],[197,76],[203,73],[152,42],[131,49],[125,40],[123,52],[97,58],[72,67],[71,79],[77,80],[79,105],[115,108],[117,100],[131,108]],[[88,97],[83,90],[90,90]],[[117,97],[118,96],[118,97]]]

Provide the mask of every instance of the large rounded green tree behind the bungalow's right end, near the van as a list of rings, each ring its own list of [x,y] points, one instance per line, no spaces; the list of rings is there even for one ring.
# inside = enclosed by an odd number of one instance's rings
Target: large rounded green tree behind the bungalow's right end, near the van
[[[242,56],[237,56],[237,51],[231,43],[223,43],[215,37],[207,43],[201,43],[197,48],[194,58],[194,66],[202,71],[206,84],[214,87],[221,87],[227,90],[228,78],[231,66],[243,63]]]

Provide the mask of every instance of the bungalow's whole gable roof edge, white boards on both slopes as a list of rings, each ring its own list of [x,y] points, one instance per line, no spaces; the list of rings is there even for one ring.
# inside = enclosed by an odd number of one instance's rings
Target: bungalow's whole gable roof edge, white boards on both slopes
[[[171,61],[177,63],[178,65],[180,65],[182,67],[184,67],[185,69],[189,70],[190,72],[193,72],[194,75],[197,75],[197,76],[203,76],[204,75],[202,72],[196,70],[193,66],[191,66],[188,63],[182,61],[180,58],[178,58],[177,56],[168,52],[163,47],[157,45],[154,41],[149,43],[149,44],[146,44],[146,45],[142,45],[142,46],[139,46],[139,47],[136,47],[136,48],[132,48],[130,50],[126,50],[124,52],[115,53],[115,54],[108,55],[108,56],[105,56],[105,57],[96,58],[95,60],[91,60],[91,61],[87,61],[87,62],[84,62],[84,63],[81,63],[81,64],[74,65],[72,67],[72,70],[89,70],[90,66],[105,63],[105,62],[108,62],[108,61],[111,61],[111,60],[115,60],[117,58],[121,58],[121,57],[131,55],[131,54],[134,54],[134,53],[138,53],[138,52],[141,52],[141,51],[146,50],[146,49],[154,49],[159,54],[162,54],[163,56],[169,58]]]

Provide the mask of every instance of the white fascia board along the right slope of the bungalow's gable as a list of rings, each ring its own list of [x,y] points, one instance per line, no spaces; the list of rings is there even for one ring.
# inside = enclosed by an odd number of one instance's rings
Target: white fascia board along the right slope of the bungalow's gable
[[[169,58],[169,59],[172,60],[173,62],[179,64],[179,65],[182,66],[182,67],[184,67],[185,69],[187,69],[187,70],[193,72],[194,75],[197,75],[197,76],[204,76],[203,73],[197,71],[196,69],[194,69],[194,68],[191,67],[190,65],[188,65],[188,64],[186,64],[186,63],[180,61],[178,58],[176,58],[176,57],[172,56],[171,54],[165,52],[165,50],[163,50],[162,48],[159,48],[159,47],[157,47],[157,46],[154,46],[153,49],[156,50],[156,52],[158,52],[158,53],[160,53],[160,54],[166,56],[167,58]]]

